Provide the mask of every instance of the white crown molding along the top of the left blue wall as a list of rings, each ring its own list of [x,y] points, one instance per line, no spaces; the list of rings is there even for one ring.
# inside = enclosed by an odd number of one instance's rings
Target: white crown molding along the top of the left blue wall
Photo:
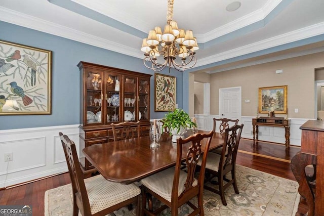
[[[78,42],[83,42],[84,44],[114,51],[124,55],[136,58],[143,58],[143,54],[140,52],[140,50],[117,44],[116,42],[103,39],[101,37],[97,37],[91,34],[87,34],[82,31],[77,31],[75,29],[68,28],[62,25],[58,25],[53,22],[19,13],[1,6],[0,14],[2,14],[2,16],[0,16],[0,20],[4,22],[34,29],[37,31],[46,32]]]

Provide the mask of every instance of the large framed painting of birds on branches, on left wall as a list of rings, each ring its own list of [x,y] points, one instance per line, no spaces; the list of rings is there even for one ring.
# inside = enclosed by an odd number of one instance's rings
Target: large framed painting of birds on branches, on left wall
[[[0,40],[0,115],[51,114],[52,51]]]

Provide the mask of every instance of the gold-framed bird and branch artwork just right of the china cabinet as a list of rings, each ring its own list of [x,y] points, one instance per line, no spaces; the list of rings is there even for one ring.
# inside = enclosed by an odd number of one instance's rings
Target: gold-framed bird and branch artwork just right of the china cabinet
[[[154,111],[176,109],[176,77],[154,73]]]

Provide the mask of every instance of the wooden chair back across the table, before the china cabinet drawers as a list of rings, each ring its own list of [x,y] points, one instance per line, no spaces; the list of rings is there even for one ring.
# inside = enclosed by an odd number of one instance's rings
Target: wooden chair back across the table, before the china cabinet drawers
[[[113,140],[127,140],[140,137],[140,121],[126,121],[121,123],[111,123]]]

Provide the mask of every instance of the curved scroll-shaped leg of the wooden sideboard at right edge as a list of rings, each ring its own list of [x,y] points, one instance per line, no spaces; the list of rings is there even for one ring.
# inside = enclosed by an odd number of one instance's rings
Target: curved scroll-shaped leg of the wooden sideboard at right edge
[[[298,192],[307,202],[308,212],[306,215],[308,216],[314,215],[315,210],[314,193],[307,182],[305,174],[305,167],[310,164],[316,164],[316,156],[301,152],[297,153],[292,158],[290,164],[293,174],[299,184]]]

